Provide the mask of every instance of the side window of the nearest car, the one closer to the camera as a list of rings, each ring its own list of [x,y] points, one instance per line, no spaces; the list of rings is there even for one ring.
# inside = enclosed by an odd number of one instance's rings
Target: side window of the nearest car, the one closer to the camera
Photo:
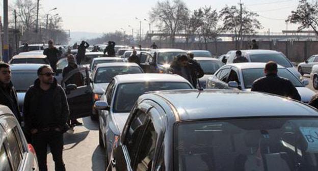
[[[157,140],[157,133],[151,120],[141,139],[141,148],[137,155],[135,168],[137,171],[147,171],[152,165]]]

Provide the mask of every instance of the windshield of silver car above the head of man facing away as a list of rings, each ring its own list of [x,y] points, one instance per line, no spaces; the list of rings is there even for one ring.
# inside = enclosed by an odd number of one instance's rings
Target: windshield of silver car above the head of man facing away
[[[292,64],[290,64],[290,62],[281,53],[251,54],[250,59],[251,62],[267,63],[270,61],[274,61],[278,65],[281,65],[283,67],[293,67]]]

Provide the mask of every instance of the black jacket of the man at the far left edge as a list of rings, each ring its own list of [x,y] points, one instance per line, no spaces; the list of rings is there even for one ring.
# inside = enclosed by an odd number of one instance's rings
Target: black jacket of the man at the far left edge
[[[2,83],[0,83],[0,104],[8,106],[19,123],[21,123],[22,117],[20,115],[17,93],[12,82],[9,83],[7,88],[4,88]]]

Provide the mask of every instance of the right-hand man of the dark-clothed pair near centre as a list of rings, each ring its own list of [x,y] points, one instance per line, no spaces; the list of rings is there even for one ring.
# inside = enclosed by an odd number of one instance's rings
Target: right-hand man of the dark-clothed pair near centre
[[[202,78],[204,76],[204,71],[201,68],[200,64],[194,60],[194,54],[188,53],[189,56],[189,65],[191,66],[191,77],[193,86],[197,88],[198,78]]]

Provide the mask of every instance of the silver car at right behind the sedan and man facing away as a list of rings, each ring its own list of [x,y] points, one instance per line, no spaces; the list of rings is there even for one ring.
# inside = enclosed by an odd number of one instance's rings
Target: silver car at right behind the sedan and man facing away
[[[293,63],[281,52],[275,50],[242,50],[242,55],[251,63],[267,63],[274,61],[278,65],[286,67],[290,72],[302,79],[302,75],[294,67]],[[235,53],[232,53],[227,60],[227,64],[232,64],[234,59]]]

